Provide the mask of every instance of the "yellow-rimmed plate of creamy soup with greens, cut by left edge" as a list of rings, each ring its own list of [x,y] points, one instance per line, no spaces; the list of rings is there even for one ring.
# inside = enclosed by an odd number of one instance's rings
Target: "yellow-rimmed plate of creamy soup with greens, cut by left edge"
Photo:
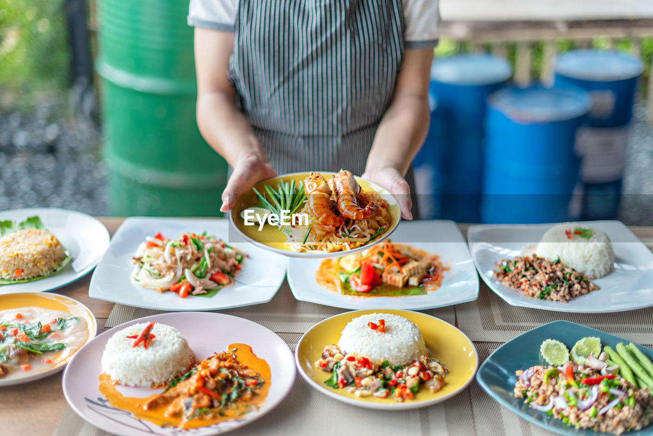
[[[0,295],[0,387],[48,377],[97,333],[91,310],[65,295]]]

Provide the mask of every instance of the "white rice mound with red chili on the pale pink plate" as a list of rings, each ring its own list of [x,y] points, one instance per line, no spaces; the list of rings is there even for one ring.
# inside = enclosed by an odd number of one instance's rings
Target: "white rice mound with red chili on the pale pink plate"
[[[186,338],[178,329],[165,324],[154,324],[150,333],[155,338],[147,349],[142,343],[132,346],[134,339],[127,336],[140,334],[148,324],[134,324],[114,333],[107,341],[102,355],[102,371],[117,384],[165,386],[195,364]]]

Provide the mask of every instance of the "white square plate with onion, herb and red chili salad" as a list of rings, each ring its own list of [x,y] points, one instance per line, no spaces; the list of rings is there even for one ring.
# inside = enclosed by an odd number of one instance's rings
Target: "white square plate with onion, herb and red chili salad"
[[[267,303],[287,259],[229,242],[229,221],[127,218],[91,277],[89,295],[156,310],[217,310]]]

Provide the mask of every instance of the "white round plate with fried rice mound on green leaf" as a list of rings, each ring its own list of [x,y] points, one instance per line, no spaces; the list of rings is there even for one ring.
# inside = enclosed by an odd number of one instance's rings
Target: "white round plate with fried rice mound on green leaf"
[[[56,208],[0,212],[0,294],[44,292],[88,274],[109,245],[96,218]]]

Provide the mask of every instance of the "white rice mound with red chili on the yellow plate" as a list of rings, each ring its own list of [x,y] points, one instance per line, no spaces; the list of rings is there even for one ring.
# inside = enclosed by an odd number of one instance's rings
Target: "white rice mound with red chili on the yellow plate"
[[[368,327],[368,322],[379,324],[385,320],[385,333]],[[385,360],[390,365],[406,365],[420,356],[426,356],[426,344],[419,328],[402,316],[373,313],[351,320],[338,341],[343,354],[356,353],[372,362]]]

